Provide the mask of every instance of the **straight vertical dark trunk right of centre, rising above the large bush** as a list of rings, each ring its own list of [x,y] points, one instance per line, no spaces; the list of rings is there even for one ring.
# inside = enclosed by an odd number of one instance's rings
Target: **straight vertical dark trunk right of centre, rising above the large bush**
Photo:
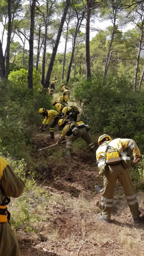
[[[90,70],[90,51],[89,51],[89,24],[90,24],[90,13],[91,13],[91,0],[86,0],[86,79],[91,76]]]

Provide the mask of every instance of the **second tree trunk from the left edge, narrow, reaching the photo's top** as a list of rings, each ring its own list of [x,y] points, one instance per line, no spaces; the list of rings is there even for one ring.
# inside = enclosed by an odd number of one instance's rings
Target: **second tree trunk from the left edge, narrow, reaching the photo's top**
[[[7,36],[7,44],[6,44],[6,72],[5,78],[8,79],[9,76],[9,51],[10,51],[10,43],[11,43],[11,34],[12,34],[12,17],[11,17],[11,0],[8,1],[8,36]]]

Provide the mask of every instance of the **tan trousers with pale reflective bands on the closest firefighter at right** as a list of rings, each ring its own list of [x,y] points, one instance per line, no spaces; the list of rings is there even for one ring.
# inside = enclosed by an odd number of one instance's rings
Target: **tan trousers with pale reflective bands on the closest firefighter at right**
[[[132,184],[130,171],[129,169],[125,169],[122,163],[109,165],[109,169],[104,175],[104,192],[102,194],[102,198],[104,199],[102,199],[101,201],[102,216],[106,219],[111,218],[112,198],[114,196],[115,184],[117,179],[123,186],[132,217],[137,218],[139,216],[139,211],[135,189]]]

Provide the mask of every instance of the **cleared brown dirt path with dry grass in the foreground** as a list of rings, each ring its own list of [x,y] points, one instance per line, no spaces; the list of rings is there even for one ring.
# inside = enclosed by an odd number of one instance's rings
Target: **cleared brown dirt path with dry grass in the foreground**
[[[36,149],[50,145],[48,137],[35,134]],[[64,150],[65,145],[61,145],[61,152]],[[39,204],[34,209],[34,214],[43,215],[38,232],[17,230],[22,256],[144,256],[144,192],[137,192],[141,222],[133,226],[117,183],[112,221],[103,223],[98,220],[101,194],[95,190],[95,185],[102,186],[103,181],[95,167],[95,153],[86,148],[72,159],[61,156],[58,161],[50,151],[42,156],[48,169],[40,186],[45,187],[49,201],[43,204],[43,211]],[[41,161],[37,150],[35,157]]]

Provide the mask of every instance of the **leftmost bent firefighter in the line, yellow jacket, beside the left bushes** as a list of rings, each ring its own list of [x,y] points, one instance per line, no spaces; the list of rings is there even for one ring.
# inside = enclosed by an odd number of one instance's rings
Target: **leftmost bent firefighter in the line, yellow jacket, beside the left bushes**
[[[63,117],[63,115],[60,116],[58,111],[52,109],[52,110],[46,110],[45,108],[40,108],[38,111],[41,115],[45,116],[45,119],[42,122],[42,125],[40,126],[40,129],[46,128],[49,125],[49,132],[50,132],[50,139],[54,140],[54,129],[55,126],[58,124],[58,120]],[[52,121],[52,123],[51,123]],[[51,124],[50,124],[51,123]],[[59,133],[62,133],[62,130],[59,128]]]

